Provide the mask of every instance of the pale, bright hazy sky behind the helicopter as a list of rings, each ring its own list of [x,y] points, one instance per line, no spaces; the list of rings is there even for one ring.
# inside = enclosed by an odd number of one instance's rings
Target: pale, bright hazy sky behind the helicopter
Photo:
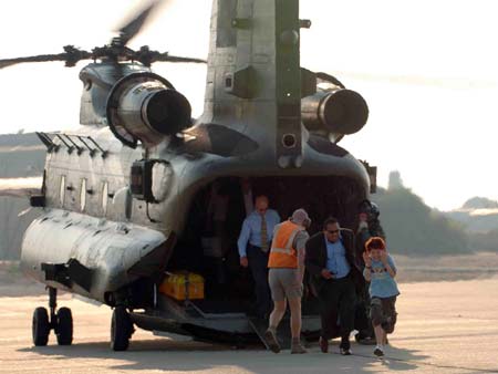
[[[142,2],[143,3],[143,2]],[[167,1],[131,45],[205,59],[210,0]],[[0,2],[0,59],[102,45],[138,0]],[[305,0],[301,65],[361,93],[370,118],[340,144],[440,210],[498,199],[498,4],[494,0]],[[29,10],[29,11],[28,11]],[[81,82],[63,63],[0,70],[0,133],[77,124]],[[200,115],[206,67],[155,64]]]

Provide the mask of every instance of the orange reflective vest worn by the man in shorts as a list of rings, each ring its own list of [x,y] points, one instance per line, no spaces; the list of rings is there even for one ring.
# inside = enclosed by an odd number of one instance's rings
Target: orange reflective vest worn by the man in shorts
[[[268,268],[298,268],[298,251],[293,248],[295,235],[304,230],[301,226],[286,221],[277,226],[270,249]]]

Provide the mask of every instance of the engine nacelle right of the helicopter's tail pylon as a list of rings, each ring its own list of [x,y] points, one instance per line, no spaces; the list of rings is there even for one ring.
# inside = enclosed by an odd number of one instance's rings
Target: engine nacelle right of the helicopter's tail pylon
[[[301,100],[301,118],[309,131],[340,138],[362,129],[369,118],[369,106],[352,90],[319,91]]]

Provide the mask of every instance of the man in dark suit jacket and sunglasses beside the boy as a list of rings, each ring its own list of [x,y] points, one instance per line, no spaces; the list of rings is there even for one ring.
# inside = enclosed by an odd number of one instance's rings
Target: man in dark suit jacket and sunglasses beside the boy
[[[338,336],[340,320],[340,351],[351,354],[350,333],[354,326],[356,284],[363,281],[355,260],[354,235],[341,230],[335,218],[328,218],[323,232],[307,242],[305,267],[320,304],[322,333],[320,349],[329,351],[329,340]]]

